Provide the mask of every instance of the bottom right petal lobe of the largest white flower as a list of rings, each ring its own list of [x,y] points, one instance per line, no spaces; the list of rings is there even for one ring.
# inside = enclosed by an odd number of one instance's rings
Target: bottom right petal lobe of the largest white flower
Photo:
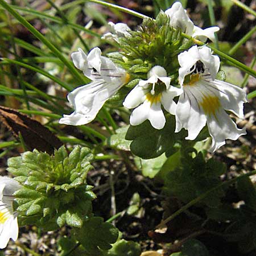
[[[236,123],[232,121],[223,109],[219,109],[216,115],[208,116],[207,125],[210,137],[212,137],[211,152],[216,151],[219,147],[224,145],[225,139],[235,141],[241,135],[246,134],[245,128],[238,129]]]

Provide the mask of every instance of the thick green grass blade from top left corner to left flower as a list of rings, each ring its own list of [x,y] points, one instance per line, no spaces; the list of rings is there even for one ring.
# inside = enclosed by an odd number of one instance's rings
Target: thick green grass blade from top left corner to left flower
[[[24,27],[26,27],[36,38],[38,38],[43,44],[45,44],[52,53],[58,57],[63,64],[67,66],[69,71],[72,73],[73,76],[75,76],[81,83],[84,83],[85,80],[81,76],[81,74],[77,71],[77,69],[73,66],[71,61],[67,60],[66,57],[64,57],[61,52],[53,46],[51,42],[49,42],[36,28],[34,28],[29,22],[27,22],[26,19],[23,18],[17,11],[15,11],[8,3],[5,2],[5,0],[0,0],[0,5],[3,6],[11,15],[13,15]]]

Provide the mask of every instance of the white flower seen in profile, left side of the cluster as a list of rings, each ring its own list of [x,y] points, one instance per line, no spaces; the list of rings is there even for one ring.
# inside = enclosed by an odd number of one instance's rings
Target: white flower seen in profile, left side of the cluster
[[[85,125],[96,117],[105,101],[126,84],[130,76],[108,57],[101,56],[98,47],[93,48],[88,55],[79,48],[79,51],[73,52],[71,57],[76,68],[92,82],[68,94],[69,104],[75,108],[75,112],[63,115],[59,123]]]

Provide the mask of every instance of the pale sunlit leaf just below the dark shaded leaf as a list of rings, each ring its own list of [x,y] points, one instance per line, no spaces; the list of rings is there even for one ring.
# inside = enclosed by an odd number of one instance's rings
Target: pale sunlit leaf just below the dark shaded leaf
[[[165,154],[162,154],[157,158],[152,158],[152,159],[135,158],[134,160],[137,167],[141,168],[143,176],[153,178],[161,170],[167,158]]]

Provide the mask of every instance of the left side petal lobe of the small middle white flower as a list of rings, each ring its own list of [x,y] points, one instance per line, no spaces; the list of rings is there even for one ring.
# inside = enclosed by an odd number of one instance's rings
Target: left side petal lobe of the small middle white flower
[[[127,94],[125,101],[123,101],[123,106],[128,109],[136,108],[145,100],[147,92],[147,89],[144,89],[142,86],[136,85],[129,92],[129,94]]]

